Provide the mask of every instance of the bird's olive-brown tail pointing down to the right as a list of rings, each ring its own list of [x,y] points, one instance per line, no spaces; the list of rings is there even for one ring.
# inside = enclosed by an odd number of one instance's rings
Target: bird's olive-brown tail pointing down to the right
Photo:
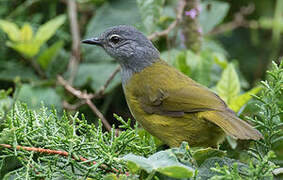
[[[206,111],[200,114],[210,122],[221,127],[228,135],[236,139],[253,139],[259,140],[262,138],[261,133],[251,125],[238,118],[235,114],[229,111]]]

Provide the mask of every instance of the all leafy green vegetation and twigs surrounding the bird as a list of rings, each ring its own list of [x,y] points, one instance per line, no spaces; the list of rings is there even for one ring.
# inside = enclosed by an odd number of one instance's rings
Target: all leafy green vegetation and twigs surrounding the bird
[[[264,139],[169,149],[142,130],[117,63],[80,43],[118,24]],[[282,33],[282,0],[1,0],[0,179],[279,179]]]

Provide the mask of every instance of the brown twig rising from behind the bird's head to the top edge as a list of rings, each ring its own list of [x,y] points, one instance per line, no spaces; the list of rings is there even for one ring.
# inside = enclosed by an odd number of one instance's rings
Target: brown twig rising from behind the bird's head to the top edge
[[[185,5],[186,5],[186,1],[185,0],[181,0],[179,2],[179,5],[178,5],[178,9],[177,9],[177,17],[175,19],[175,21],[173,21],[167,29],[161,31],[161,32],[155,32],[151,35],[148,36],[148,39],[149,40],[153,40],[157,37],[161,37],[161,36],[166,36],[170,33],[170,31],[172,31],[181,21],[182,19],[182,14],[184,12],[184,8],[185,8]]]

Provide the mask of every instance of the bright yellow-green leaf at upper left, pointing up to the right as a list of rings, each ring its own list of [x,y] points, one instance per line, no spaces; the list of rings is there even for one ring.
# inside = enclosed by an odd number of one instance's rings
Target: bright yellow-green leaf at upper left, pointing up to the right
[[[34,38],[34,41],[38,43],[37,45],[41,46],[48,39],[50,39],[56,30],[65,22],[65,20],[66,16],[60,15],[41,25]]]

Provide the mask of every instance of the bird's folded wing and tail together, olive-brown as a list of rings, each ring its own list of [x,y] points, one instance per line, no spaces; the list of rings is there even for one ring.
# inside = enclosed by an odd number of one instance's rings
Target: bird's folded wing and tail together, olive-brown
[[[142,97],[141,107],[149,114],[182,117],[186,113],[198,113],[236,139],[262,138],[262,135],[245,121],[236,117],[220,97],[210,90],[191,84],[181,89],[158,89]],[[154,94],[154,95],[153,95]]]

